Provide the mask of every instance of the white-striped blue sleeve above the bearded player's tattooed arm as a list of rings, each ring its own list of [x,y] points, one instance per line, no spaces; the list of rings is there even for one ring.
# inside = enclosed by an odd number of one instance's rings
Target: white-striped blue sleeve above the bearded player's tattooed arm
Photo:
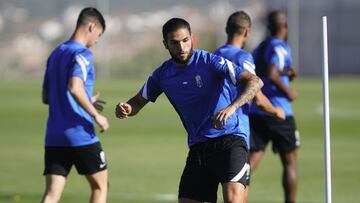
[[[238,66],[233,62],[214,54],[210,54],[210,63],[217,74],[226,78],[234,85],[237,84],[239,75],[245,71],[242,66]]]

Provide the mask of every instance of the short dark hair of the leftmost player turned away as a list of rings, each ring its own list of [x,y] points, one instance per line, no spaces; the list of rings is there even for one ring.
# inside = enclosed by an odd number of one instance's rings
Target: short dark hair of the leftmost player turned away
[[[95,21],[100,23],[103,32],[105,32],[105,19],[103,15],[96,8],[87,7],[81,10],[78,20],[76,22],[76,28],[79,28],[81,25],[86,25],[90,21]]]

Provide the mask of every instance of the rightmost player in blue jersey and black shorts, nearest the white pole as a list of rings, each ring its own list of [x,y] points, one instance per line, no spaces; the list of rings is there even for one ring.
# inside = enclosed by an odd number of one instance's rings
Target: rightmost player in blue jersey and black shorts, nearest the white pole
[[[264,82],[262,91],[274,106],[285,110],[286,120],[280,122],[255,105],[250,110],[251,170],[255,170],[264,155],[269,141],[275,153],[279,153],[283,166],[282,184],[285,202],[294,203],[296,198],[297,171],[296,153],[300,145],[291,102],[297,93],[290,87],[296,77],[292,66],[291,52],[286,43],[288,24],[285,13],[273,11],[268,16],[270,37],[265,39],[253,53],[256,74]]]

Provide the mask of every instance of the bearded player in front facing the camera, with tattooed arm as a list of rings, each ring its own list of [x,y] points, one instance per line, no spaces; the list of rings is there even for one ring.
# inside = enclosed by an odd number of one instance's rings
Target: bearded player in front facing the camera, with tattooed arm
[[[194,50],[190,25],[184,19],[170,19],[162,33],[171,59],[150,75],[133,98],[116,106],[116,116],[134,116],[165,93],[187,131],[190,148],[179,202],[216,202],[219,183],[225,203],[242,202],[249,175],[249,135],[236,111],[254,97],[262,81],[227,59]],[[243,85],[236,97],[234,85]]]

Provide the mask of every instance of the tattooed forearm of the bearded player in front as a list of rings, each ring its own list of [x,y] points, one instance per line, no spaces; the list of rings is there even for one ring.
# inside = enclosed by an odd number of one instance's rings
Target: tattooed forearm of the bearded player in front
[[[251,75],[242,93],[240,93],[240,95],[233,101],[233,105],[235,105],[236,108],[239,108],[249,102],[254,98],[261,87],[262,82],[260,81],[260,78]]]

